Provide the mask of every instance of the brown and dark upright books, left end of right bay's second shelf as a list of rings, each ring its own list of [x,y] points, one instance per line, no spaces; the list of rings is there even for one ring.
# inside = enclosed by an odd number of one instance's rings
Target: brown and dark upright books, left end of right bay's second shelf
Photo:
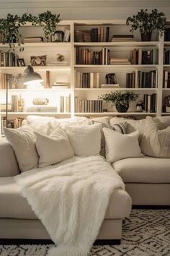
[[[109,64],[109,49],[102,48],[101,51],[91,51],[89,48],[76,48],[76,64]]]

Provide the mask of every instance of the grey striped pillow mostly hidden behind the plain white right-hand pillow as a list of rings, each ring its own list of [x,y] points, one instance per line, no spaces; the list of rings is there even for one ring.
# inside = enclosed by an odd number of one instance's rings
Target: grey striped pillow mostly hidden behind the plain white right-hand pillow
[[[94,124],[98,123],[100,121],[93,121]],[[109,125],[109,124],[105,124],[102,123],[102,129],[103,128],[108,128],[108,129],[112,129],[114,131],[120,132],[123,135],[126,133],[126,129],[127,129],[127,123],[125,122],[121,122],[119,124],[114,124],[113,126]],[[102,139],[101,139],[101,150],[100,150],[100,155],[104,156],[104,158],[106,157],[106,149],[105,149],[105,137],[104,137],[104,132],[102,130]]]

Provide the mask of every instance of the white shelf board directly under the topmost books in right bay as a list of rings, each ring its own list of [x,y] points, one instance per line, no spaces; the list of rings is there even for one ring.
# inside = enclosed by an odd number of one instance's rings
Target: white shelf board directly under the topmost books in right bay
[[[118,41],[118,42],[86,42],[86,43],[74,43],[74,46],[80,46],[80,47],[114,47],[114,46],[119,46],[119,47],[137,47],[137,46],[142,46],[142,47],[156,47],[159,46],[159,41],[151,41],[151,42],[140,42],[140,41]],[[170,44],[169,44],[170,45]]]

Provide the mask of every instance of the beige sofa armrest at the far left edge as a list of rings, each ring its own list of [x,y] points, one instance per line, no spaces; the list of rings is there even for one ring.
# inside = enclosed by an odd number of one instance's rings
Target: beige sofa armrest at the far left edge
[[[19,167],[14,151],[6,138],[0,138],[0,177],[19,174]]]

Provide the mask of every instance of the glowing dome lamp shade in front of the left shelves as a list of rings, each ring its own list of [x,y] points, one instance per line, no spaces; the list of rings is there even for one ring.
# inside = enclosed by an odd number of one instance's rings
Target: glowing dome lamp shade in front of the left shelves
[[[33,67],[28,66],[27,69],[24,70],[26,75],[24,76],[24,85],[30,85],[32,82],[42,82],[42,77],[37,72],[34,72]]]

